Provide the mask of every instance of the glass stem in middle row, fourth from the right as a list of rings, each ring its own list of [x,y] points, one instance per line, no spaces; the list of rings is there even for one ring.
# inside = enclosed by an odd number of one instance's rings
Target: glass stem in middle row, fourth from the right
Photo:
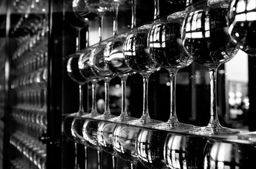
[[[122,109],[121,109],[121,114],[120,117],[122,119],[125,119],[125,117],[128,117],[127,110],[126,110],[126,80],[127,76],[122,76],[121,77],[121,85],[122,85]]]

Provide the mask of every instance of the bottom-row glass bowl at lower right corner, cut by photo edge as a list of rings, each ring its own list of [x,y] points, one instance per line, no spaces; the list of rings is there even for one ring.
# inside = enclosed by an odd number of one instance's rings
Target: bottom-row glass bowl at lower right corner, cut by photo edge
[[[252,168],[255,151],[250,144],[212,140],[205,147],[204,168]]]

